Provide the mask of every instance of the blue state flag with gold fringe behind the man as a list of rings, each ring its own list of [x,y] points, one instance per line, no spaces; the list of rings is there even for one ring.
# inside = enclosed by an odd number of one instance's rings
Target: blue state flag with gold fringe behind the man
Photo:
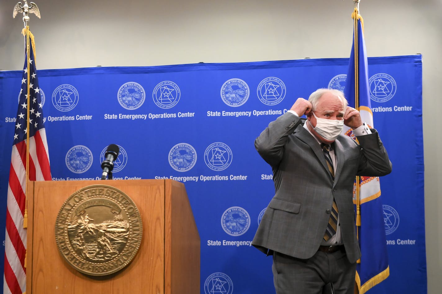
[[[359,110],[362,121],[374,128],[363,19],[357,8],[352,17],[354,38],[344,95],[349,106]],[[345,132],[355,139],[351,129]],[[363,294],[389,276],[379,177],[357,177],[353,191],[353,202],[357,211],[356,229],[362,253],[356,268],[356,284],[359,294]]]

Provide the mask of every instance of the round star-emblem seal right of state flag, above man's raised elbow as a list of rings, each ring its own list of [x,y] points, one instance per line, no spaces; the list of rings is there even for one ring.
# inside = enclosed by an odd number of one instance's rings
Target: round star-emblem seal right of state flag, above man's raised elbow
[[[396,94],[396,81],[391,75],[379,73],[369,80],[370,98],[376,102],[387,102]]]

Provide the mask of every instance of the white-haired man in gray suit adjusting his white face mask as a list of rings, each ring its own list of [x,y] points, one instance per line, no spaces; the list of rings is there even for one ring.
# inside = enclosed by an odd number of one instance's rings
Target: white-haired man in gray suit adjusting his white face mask
[[[359,144],[341,135],[343,124]],[[320,294],[333,283],[336,294],[352,294],[361,256],[354,179],[392,169],[378,133],[362,124],[341,91],[319,89],[272,121],[255,147],[272,167],[275,196],[252,245],[273,254],[276,293]]]

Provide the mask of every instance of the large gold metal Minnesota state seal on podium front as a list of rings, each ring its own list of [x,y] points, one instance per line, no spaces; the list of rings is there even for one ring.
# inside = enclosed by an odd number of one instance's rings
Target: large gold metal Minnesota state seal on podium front
[[[143,224],[129,196],[107,185],[91,185],[65,201],[55,221],[58,251],[77,271],[109,275],[137,254]]]

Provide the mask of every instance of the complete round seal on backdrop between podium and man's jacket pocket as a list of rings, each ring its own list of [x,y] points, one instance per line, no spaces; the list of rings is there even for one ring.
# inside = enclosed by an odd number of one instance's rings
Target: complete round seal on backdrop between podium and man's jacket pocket
[[[242,207],[227,208],[221,216],[221,226],[230,236],[240,236],[247,232],[250,226],[250,215]]]

